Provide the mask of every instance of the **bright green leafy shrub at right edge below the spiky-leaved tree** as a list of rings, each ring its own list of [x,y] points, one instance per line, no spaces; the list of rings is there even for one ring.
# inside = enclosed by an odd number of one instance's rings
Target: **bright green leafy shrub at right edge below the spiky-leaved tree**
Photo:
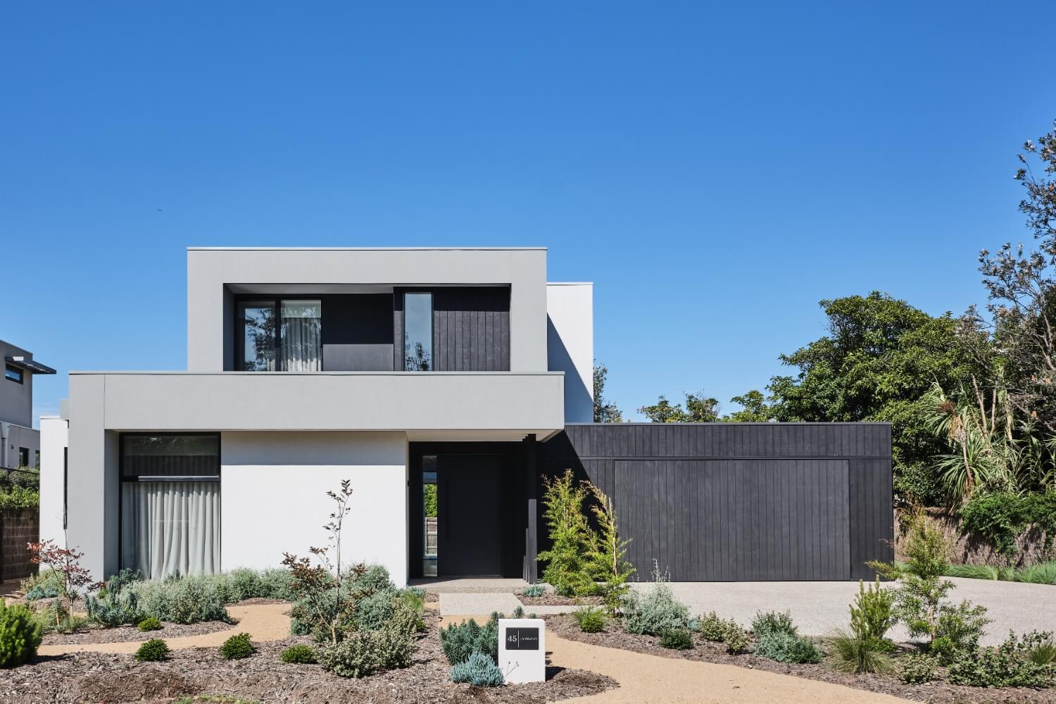
[[[960,514],[964,531],[1008,558],[1016,556],[1016,539],[1031,526],[1044,531],[1045,549],[1056,537],[1056,492],[981,494],[964,503]]]

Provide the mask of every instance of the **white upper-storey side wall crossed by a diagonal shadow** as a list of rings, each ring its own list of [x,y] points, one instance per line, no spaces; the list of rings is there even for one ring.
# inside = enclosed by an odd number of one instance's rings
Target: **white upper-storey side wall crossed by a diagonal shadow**
[[[546,285],[548,370],[565,373],[565,422],[593,420],[593,284]]]

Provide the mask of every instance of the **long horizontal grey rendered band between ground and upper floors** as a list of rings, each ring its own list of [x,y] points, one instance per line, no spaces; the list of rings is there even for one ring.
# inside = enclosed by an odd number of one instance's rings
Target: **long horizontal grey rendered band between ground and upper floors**
[[[101,414],[115,431],[542,440],[564,429],[564,381],[561,372],[71,372],[70,402],[74,418]]]

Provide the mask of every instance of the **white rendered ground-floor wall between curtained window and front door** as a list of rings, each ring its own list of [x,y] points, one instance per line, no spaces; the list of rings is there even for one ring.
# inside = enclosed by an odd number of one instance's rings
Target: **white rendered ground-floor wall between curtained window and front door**
[[[342,565],[384,565],[407,584],[407,436],[403,433],[230,432],[221,436],[223,569],[279,567],[283,552],[325,547],[327,491],[352,480]]]

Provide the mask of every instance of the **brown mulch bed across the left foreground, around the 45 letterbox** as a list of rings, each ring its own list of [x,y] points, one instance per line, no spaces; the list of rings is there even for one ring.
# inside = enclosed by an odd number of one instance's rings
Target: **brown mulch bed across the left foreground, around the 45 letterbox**
[[[287,665],[279,653],[290,638],[257,644],[258,652],[237,661],[223,660],[216,648],[177,650],[167,662],[137,663],[132,655],[80,652],[35,662],[4,671],[0,702],[4,704],[98,702],[170,702],[191,695],[231,695],[265,704],[303,702],[372,702],[395,704],[541,704],[592,695],[616,687],[609,678],[583,670],[547,668],[547,681],[482,688],[454,684],[440,650],[439,619],[426,614],[428,631],[419,639],[411,667],[346,680],[318,665]]]

